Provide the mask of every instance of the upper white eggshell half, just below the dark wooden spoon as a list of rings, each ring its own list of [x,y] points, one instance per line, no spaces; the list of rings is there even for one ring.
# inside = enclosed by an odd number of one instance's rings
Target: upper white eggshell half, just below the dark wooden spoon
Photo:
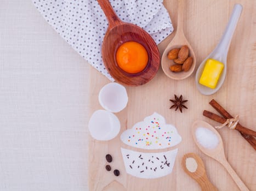
[[[114,113],[122,111],[128,102],[126,88],[119,83],[107,83],[100,90],[99,102],[107,111]]]

